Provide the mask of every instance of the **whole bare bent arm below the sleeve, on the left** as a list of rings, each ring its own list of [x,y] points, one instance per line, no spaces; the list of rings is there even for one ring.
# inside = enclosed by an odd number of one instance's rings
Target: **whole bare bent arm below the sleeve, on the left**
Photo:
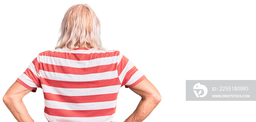
[[[3,97],[4,104],[18,122],[34,122],[22,101],[22,98],[32,90],[15,81]]]

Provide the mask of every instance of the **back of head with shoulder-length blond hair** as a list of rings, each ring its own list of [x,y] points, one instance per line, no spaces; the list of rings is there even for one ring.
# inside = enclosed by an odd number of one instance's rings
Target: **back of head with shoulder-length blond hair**
[[[70,50],[85,47],[103,49],[100,39],[100,22],[87,4],[73,5],[66,12],[60,28],[57,48]]]

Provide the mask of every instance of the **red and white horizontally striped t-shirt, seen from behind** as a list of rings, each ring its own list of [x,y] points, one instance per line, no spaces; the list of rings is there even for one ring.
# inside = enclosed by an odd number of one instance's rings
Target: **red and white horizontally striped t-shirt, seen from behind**
[[[49,122],[110,122],[120,87],[145,78],[119,51],[64,47],[39,53],[17,81],[42,88]]]

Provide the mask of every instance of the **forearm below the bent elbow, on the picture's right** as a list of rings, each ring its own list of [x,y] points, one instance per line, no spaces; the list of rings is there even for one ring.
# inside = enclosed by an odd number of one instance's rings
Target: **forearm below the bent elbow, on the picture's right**
[[[141,99],[136,110],[124,122],[142,122],[159,102],[160,100]]]

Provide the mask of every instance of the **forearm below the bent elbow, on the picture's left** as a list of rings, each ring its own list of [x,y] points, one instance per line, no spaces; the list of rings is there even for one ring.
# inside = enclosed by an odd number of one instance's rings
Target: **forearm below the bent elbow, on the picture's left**
[[[5,105],[11,111],[12,115],[17,119],[18,122],[34,122],[30,117],[27,109],[22,101],[20,100],[5,100]]]

